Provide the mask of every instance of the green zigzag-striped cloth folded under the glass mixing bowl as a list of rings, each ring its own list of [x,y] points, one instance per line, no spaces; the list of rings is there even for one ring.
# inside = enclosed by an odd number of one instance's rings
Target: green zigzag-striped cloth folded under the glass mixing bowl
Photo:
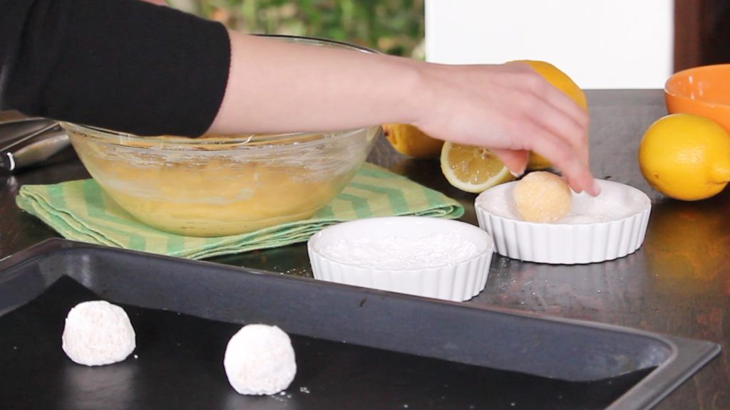
[[[370,163],[358,171],[337,198],[308,220],[215,238],[180,236],[150,228],[115,204],[93,179],[23,185],[15,199],[21,209],[66,239],[191,259],[303,242],[327,225],[364,217],[458,218],[464,214],[461,204],[442,193]]]

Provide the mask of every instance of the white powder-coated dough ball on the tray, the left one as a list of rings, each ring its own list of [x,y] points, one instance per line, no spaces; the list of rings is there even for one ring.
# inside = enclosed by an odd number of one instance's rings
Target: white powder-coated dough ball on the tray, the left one
[[[63,348],[71,360],[82,365],[108,365],[127,358],[136,347],[124,309],[107,301],[83,302],[66,317]]]

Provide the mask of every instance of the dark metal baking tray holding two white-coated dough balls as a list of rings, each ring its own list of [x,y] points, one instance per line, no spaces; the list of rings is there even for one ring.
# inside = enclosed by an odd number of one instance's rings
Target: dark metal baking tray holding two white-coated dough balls
[[[137,358],[64,356],[68,309],[95,298],[131,312]],[[281,395],[226,382],[251,322],[293,335]],[[0,351],[2,409],[645,409],[719,347],[53,239],[0,261]]]

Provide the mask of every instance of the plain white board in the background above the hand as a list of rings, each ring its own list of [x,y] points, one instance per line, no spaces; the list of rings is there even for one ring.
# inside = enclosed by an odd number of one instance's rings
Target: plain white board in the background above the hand
[[[555,64],[581,88],[663,88],[672,0],[426,0],[426,60]]]

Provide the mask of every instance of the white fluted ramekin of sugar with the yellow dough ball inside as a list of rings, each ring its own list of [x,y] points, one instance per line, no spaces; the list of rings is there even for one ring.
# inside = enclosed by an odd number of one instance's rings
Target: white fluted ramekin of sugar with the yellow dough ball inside
[[[492,237],[499,255],[538,263],[595,263],[623,258],[644,241],[651,201],[634,187],[599,180],[601,194],[573,193],[571,212],[563,220],[531,223],[515,211],[516,183],[485,190],[475,201],[480,228]]]

